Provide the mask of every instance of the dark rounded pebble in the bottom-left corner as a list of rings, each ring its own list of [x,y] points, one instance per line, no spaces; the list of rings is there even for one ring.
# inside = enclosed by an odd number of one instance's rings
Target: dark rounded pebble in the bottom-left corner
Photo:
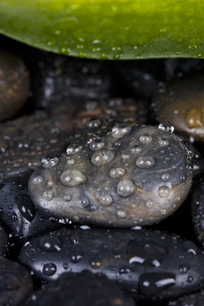
[[[18,263],[0,257],[0,305],[17,306],[32,290],[30,273]]]

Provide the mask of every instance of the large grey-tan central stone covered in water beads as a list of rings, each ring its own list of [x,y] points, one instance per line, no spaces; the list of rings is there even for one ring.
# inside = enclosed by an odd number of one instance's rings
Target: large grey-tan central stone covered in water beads
[[[103,148],[72,144],[56,166],[33,172],[33,202],[49,216],[103,226],[165,219],[185,200],[193,171],[184,144],[165,129],[122,123],[101,138]]]

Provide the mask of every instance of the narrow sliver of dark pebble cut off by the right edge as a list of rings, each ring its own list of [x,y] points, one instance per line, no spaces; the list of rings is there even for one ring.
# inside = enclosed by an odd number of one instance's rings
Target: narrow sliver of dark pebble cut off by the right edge
[[[197,185],[192,194],[193,225],[197,239],[204,247],[204,182]]]

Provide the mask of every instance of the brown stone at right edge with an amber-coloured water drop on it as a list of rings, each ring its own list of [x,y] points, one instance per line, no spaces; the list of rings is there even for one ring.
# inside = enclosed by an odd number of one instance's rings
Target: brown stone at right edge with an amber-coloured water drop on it
[[[154,99],[157,120],[171,121],[175,131],[185,133],[192,141],[204,142],[203,84],[203,72],[167,83]]]

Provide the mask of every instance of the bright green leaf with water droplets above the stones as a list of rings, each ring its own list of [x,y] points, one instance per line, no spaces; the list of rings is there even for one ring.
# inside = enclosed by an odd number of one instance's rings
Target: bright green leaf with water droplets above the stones
[[[204,57],[202,0],[0,0],[0,33],[77,57]]]

